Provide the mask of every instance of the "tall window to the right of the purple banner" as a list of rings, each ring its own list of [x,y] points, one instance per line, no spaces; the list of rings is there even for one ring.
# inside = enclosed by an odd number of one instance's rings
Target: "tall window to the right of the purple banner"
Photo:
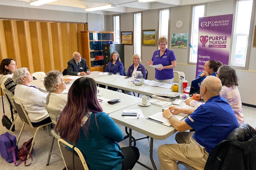
[[[236,5],[231,65],[245,67],[253,0],[237,1]]]

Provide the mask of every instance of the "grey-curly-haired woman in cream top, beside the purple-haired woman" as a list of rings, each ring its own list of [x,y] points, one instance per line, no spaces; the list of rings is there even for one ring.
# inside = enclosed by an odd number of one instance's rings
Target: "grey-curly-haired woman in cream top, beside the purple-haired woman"
[[[49,108],[63,109],[67,104],[67,95],[62,94],[66,89],[66,81],[63,80],[62,73],[58,70],[49,71],[43,81],[43,85],[49,94],[46,104]]]

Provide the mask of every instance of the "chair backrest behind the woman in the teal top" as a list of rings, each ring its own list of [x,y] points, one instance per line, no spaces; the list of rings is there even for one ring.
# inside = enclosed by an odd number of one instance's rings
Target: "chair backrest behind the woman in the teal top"
[[[70,145],[69,143],[67,143],[65,140],[61,138],[58,139],[59,149],[61,150],[62,158],[64,160],[67,170],[74,170],[73,169],[73,152],[68,150],[65,146],[63,146],[62,143],[70,147],[71,149],[73,148],[73,145]],[[77,147],[74,147],[74,150],[75,152],[77,152],[77,154],[76,153],[74,154],[75,169],[89,170],[82,152]]]

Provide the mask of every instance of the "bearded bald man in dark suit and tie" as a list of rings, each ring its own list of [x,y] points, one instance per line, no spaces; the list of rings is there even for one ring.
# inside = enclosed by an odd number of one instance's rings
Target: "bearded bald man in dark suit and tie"
[[[69,75],[91,74],[86,64],[86,60],[81,57],[82,56],[78,52],[72,54],[72,59],[67,62],[67,73]]]

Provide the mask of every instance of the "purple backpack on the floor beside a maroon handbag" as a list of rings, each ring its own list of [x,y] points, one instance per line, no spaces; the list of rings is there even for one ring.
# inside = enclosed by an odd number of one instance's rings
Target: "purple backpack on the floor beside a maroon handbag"
[[[0,154],[6,162],[13,162],[12,150],[15,152],[15,156],[18,153],[18,146],[16,145],[16,137],[6,132],[0,135]],[[19,158],[16,156],[16,160]]]

